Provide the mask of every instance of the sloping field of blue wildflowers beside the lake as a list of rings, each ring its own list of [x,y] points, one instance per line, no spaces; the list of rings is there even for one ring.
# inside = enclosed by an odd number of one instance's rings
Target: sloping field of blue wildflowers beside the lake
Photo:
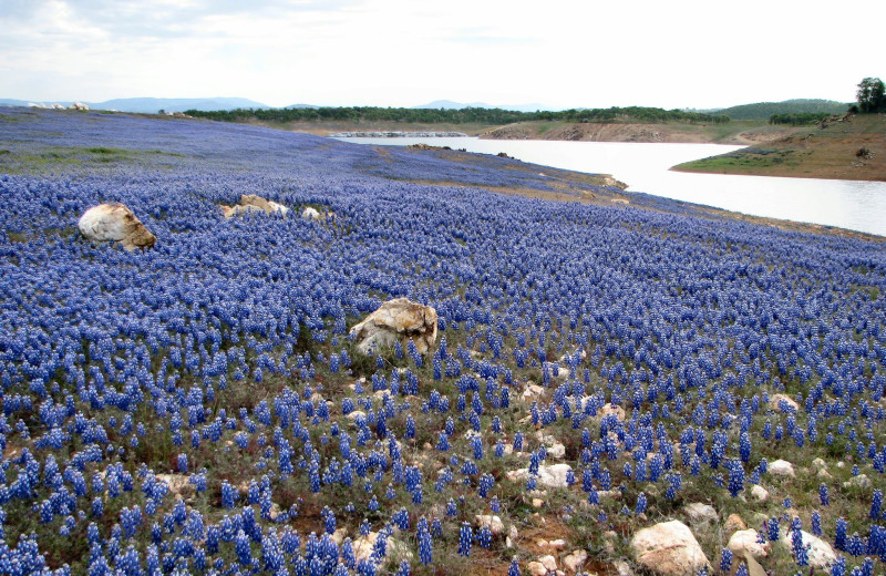
[[[563,192],[518,164],[0,113],[0,575],[515,576],[555,537],[645,574],[631,537],[697,502],[711,575],[749,569],[730,514],[772,574],[882,574],[884,244],[488,189]],[[83,239],[103,202],[154,249]],[[361,356],[398,297],[436,346]]]

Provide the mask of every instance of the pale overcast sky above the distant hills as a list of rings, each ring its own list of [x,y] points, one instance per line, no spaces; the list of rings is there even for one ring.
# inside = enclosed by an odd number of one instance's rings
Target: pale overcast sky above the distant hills
[[[271,106],[855,100],[886,2],[0,0],[0,97]]]

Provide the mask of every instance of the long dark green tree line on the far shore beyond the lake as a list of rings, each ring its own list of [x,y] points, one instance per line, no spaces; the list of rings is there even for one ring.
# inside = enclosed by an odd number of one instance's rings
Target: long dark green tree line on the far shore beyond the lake
[[[220,120],[225,122],[408,122],[423,124],[512,124],[534,120],[566,122],[688,122],[688,123],[727,123],[724,115],[701,114],[681,110],[663,110],[657,107],[609,107],[609,109],[570,109],[558,112],[515,112],[502,109],[465,107],[446,109],[392,109],[375,106],[344,106],[317,109],[238,109],[230,111],[202,112],[188,110],[186,114],[195,117]]]

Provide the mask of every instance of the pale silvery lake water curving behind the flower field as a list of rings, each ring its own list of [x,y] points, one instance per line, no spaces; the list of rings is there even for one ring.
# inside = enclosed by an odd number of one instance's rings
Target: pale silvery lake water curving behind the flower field
[[[624,142],[560,142],[540,140],[340,138],[343,142],[405,146],[466,148],[591,174],[611,174],[628,184],[629,192],[645,192],[796,222],[838,226],[886,236],[886,183],[686,174],[668,168],[690,160],[739,150],[722,144],[639,144]]]

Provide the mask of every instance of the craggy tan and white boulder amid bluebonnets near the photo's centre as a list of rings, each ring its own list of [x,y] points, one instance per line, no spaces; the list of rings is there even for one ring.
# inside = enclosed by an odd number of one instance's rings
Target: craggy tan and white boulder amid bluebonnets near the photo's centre
[[[388,300],[351,328],[357,349],[364,354],[375,353],[379,348],[394,346],[400,341],[405,349],[406,340],[415,342],[419,353],[427,352],[436,342],[436,310],[406,298]]]

